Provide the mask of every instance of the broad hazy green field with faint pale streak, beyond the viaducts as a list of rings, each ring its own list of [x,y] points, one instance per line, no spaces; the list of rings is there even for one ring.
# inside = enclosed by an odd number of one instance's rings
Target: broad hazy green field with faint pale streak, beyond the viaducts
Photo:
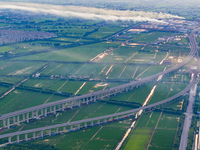
[[[51,51],[47,54],[45,53],[45,54],[34,54],[31,56],[22,56],[15,59],[83,62],[83,61],[89,61],[90,59],[102,53],[109,47],[116,47],[116,46],[117,43],[97,43],[97,44],[84,45],[63,50]]]

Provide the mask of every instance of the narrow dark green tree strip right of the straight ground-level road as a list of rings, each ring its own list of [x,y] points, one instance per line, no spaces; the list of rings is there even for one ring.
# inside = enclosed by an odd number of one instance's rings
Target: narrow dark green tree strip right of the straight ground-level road
[[[192,150],[194,135],[196,134],[196,131],[197,131],[197,117],[193,116],[188,135],[187,150]]]

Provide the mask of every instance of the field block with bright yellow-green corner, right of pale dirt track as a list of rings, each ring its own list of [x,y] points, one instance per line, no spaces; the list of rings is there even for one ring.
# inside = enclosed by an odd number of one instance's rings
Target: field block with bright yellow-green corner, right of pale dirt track
[[[148,147],[149,150],[170,150],[174,143],[178,122],[179,115],[155,111],[145,113],[139,118],[124,149],[140,150]]]

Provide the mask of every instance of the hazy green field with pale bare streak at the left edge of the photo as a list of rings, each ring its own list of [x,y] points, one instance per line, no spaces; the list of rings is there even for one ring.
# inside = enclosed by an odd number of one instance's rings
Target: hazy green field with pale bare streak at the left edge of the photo
[[[45,63],[16,62],[6,66],[0,72],[0,75],[31,75],[36,70],[44,66]]]

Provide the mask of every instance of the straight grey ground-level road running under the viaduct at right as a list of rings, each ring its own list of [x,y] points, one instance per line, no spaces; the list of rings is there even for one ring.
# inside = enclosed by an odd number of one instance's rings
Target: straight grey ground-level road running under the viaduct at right
[[[184,121],[184,126],[183,126],[183,132],[181,135],[179,150],[186,150],[186,147],[187,147],[188,134],[189,134],[192,116],[193,116],[193,105],[194,105],[194,99],[196,95],[196,89],[197,89],[197,84],[195,84],[190,89],[190,97],[189,97],[189,102],[188,102],[189,104],[187,106],[187,111],[185,113],[185,121]]]

